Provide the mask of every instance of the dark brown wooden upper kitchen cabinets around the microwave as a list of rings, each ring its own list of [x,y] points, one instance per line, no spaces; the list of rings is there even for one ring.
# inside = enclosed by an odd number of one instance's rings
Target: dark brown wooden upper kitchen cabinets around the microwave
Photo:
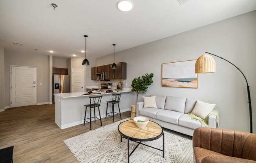
[[[99,72],[105,72],[105,79],[126,79],[126,63],[118,62],[115,64],[117,65],[116,69],[111,68],[112,64],[91,68],[91,74],[95,74],[94,78],[92,75],[91,80],[96,80],[96,74]]]

